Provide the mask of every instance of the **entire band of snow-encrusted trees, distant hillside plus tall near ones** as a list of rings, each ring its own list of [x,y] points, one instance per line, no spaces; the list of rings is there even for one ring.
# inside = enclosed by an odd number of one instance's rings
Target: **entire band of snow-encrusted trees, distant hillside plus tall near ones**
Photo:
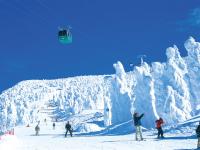
[[[166,63],[143,62],[130,72],[117,62],[113,75],[22,81],[0,95],[0,131],[35,122],[50,101],[66,116],[99,110],[105,126],[130,120],[134,111],[145,113],[147,128],[159,116],[167,124],[190,119],[200,113],[200,43],[190,37],[184,46],[184,58],[169,47]]]

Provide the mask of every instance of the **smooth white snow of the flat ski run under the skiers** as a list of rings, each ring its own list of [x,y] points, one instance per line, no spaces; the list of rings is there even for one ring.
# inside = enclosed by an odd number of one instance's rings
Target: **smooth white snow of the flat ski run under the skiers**
[[[187,133],[165,133],[165,139],[158,140],[155,131],[143,133],[144,141],[135,141],[134,134],[128,135],[84,135],[75,133],[64,138],[62,123],[52,126],[41,124],[39,136],[35,136],[34,127],[18,126],[15,135],[2,136],[1,150],[192,150],[196,148],[197,139]],[[120,128],[118,128],[120,129]],[[119,130],[118,130],[119,131]],[[122,130],[121,130],[122,131]]]

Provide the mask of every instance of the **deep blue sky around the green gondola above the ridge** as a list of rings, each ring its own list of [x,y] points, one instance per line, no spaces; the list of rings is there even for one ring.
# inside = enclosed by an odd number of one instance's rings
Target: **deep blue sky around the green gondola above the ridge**
[[[22,80],[112,74],[145,61],[166,61],[165,49],[200,41],[198,0],[0,0],[0,91]],[[73,43],[57,39],[72,27]]]

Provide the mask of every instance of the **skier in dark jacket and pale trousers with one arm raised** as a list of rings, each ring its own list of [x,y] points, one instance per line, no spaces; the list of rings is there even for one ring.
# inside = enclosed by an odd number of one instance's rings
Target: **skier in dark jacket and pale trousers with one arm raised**
[[[142,137],[142,129],[141,129],[141,118],[144,116],[144,114],[139,114],[137,112],[134,113],[133,119],[134,119],[134,125],[135,125],[135,140],[138,141],[138,135],[140,136],[140,139],[143,140]]]

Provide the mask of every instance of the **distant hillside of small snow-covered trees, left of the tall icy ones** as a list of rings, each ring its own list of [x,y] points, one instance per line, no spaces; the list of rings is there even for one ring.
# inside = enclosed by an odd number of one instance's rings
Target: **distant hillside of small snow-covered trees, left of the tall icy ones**
[[[85,109],[103,109],[104,84],[103,76],[20,82],[0,96],[1,130],[37,121],[39,110],[52,103],[65,116]]]

